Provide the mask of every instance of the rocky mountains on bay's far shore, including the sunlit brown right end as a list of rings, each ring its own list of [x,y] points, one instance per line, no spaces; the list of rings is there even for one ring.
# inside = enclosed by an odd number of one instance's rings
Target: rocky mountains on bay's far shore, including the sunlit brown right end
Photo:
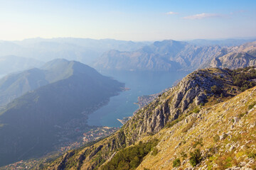
[[[193,71],[206,67],[235,69],[254,66],[256,64],[255,49],[255,42],[247,42],[240,46],[221,47],[219,45],[196,46],[188,42],[163,40],[146,45],[134,52],[119,52],[117,50],[105,52],[102,58],[95,63],[95,67],[97,69],[163,72]],[[247,55],[235,55],[239,52],[247,52]],[[228,57],[228,54],[231,53],[233,57]],[[242,56],[243,58],[241,58]],[[212,60],[213,62],[211,62]],[[226,60],[233,63],[234,66],[218,65]]]

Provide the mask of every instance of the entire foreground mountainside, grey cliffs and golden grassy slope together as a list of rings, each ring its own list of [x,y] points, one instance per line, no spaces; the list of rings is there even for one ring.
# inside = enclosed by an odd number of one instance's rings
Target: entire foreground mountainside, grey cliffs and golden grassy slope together
[[[197,70],[110,137],[70,150],[43,169],[254,169],[252,79],[251,67]]]

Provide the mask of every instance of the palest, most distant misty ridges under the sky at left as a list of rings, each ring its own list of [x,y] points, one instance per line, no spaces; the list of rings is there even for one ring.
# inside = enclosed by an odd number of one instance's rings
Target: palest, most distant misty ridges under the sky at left
[[[149,42],[90,38],[30,38],[21,41],[0,41],[0,56],[16,55],[43,62],[56,58],[75,60],[92,65],[108,50],[137,50]],[[1,69],[0,69],[1,71]]]

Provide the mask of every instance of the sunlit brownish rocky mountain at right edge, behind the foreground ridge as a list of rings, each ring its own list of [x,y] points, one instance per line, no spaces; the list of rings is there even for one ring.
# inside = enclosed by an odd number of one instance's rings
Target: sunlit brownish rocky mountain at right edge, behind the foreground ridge
[[[224,50],[224,49],[223,49]],[[215,57],[210,67],[237,69],[256,65],[256,42],[225,49],[226,55]]]

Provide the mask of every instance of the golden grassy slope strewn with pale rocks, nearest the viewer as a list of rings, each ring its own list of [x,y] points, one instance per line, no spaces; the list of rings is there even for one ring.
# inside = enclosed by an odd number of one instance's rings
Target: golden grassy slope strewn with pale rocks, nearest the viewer
[[[255,169],[256,88],[161,130],[137,169]],[[146,139],[144,139],[146,140]]]

